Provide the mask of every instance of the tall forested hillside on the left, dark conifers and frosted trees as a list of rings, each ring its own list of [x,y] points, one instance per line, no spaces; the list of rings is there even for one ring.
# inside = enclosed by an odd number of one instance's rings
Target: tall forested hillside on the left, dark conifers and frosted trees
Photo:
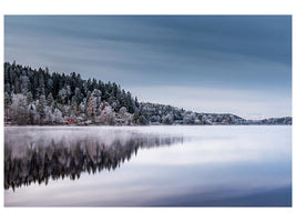
[[[6,117],[17,124],[61,123],[64,119],[114,124],[120,111],[132,123],[137,119],[130,115],[139,107],[137,98],[115,82],[4,63]]]

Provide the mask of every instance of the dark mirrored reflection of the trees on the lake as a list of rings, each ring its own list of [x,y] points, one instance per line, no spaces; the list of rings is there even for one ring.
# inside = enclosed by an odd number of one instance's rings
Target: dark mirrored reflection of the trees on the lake
[[[114,134],[113,134],[114,135]],[[79,179],[82,172],[115,170],[129,161],[139,149],[183,142],[183,138],[130,133],[129,137],[7,137],[4,143],[4,189],[48,184],[49,180],[69,176]]]

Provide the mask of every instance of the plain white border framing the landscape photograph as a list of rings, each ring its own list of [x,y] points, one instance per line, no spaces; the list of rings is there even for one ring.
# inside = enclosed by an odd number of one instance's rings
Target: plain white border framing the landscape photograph
[[[3,65],[3,14],[294,14],[292,0],[109,0],[109,1],[38,1],[2,0],[0,3],[0,61]],[[294,18],[293,18],[294,19]],[[293,22],[293,28],[295,24]],[[294,30],[294,29],[293,29]],[[295,40],[293,36],[293,40]],[[294,61],[294,58],[293,58]],[[3,68],[0,71],[3,78]],[[293,85],[295,85],[293,78]],[[0,81],[1,117],[3,117],[3,80]],[[295,102],[293,90],[293,104]],[[294,105],[293,105],[294,107]],[[295,112],[293,109],[293,117]],[[0,161],[3,163],[3,118],[1,123]],[[293,130],[293,139],[295,138]],[[293,142],[293,148],[294,148]],[[293,152],[293,159],[294,159]],[[0,164],[3,184],[3,164]],[[293,175],[295,167],[293,164]],[[293,176],[294,179],[294,176]],[[294,184],[294,180],[293,180]],[[293,221],[296,218],[294,208],[3,208],[3,185],[1,219],[2,221]],[[294,185],[293,185],[294,186]],[[294,193],[294,192],[293,192]],[[293,203],[295,203],[293,198]],[[295,219],[294,219],[295,220]]]

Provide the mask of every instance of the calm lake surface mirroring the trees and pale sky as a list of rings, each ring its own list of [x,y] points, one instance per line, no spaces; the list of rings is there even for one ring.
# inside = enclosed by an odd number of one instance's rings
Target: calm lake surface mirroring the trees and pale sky
[[[292,127],[9,127],[6,206],[292,205]]]

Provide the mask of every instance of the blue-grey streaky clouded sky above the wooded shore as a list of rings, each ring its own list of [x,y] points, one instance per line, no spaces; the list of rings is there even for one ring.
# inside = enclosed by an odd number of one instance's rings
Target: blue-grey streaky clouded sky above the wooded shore
[[[290,16],[6,16],[4,60],[196,112],[292,115]]]

